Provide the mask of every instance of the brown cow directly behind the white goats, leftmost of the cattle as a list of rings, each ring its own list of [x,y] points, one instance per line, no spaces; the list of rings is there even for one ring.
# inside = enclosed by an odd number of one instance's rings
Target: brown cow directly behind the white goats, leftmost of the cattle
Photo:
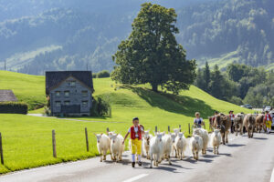
[[[222,135],[222,143],[226,145],[228,143],[228,129],[231,127],[231,120],[229,116],[219,114],[214,120],[214,126],[220,129]]]

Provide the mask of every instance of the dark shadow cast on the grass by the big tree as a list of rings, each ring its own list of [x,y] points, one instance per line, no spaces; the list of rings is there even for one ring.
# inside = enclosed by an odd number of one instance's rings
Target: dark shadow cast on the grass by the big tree
[[[201,113],[201,116],[211,116],[214,110],[211,106],[205,104],[203,100],[196,99],[190,96],[175,96],[168,93],[155,93],[150,89],[134,86],[122,86],[125,89],[132,90],[151,106],[161,108],[165,111],[184,114],[185,116],[194,116],[196,111]]]

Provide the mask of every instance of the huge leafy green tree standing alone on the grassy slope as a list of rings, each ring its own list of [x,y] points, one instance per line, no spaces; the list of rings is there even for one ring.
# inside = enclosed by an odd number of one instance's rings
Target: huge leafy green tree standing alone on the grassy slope
[[[112,56],[117,66],[111,73],[113,80],[122,84],[149,83],[153,91],[162,86],[174,94],[188,89],[195,79],[195,60],[188,61],[185,51],[174,34],[176,14],[151,3],[142,4],[132,23],[132,33],[118,46]]]

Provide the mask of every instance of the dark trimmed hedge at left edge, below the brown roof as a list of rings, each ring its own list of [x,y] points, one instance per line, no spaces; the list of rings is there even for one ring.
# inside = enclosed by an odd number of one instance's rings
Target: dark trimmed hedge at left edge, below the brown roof
[[[0,102],[0,113],[27,114],[27,105],[22,102]]]

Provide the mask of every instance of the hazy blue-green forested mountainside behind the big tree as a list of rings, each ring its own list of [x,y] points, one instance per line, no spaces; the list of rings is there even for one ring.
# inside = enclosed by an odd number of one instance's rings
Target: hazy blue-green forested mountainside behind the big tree
[[[144,2],[1,1],[0,69],[6,60],[8,70],[32,75],[87,66],[95,73],[111,70],[111,56],[130,34]],[[199,66],[208,60],[224,68],[231,62],[273,68],[273,1],[150,2],[175,8],[177,40]]]

